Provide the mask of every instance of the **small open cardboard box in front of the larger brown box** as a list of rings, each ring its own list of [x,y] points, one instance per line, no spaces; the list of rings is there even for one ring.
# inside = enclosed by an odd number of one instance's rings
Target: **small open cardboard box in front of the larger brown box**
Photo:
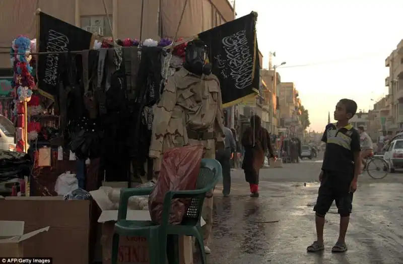
[[[49,226],[24,234],[23,221],[0,221],[0,256],[24,257],[23,241],[49,230]]]

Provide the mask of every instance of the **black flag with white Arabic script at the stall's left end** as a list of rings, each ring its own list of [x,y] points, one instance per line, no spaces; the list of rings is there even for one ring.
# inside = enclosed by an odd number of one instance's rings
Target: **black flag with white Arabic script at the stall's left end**
[[[39,13],[39,52],[65,52],[90,49],[93,34],[43,12]],[[60,53],[63,54],[63,53]],[[38,59],[38,88],[44,96],[53,98],[57,93],[60,54],[40,54]]]

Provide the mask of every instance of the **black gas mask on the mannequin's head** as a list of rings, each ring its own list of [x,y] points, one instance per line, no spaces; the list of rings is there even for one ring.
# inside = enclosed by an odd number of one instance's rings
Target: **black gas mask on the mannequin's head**
[[[212,70],[212,65],[206,63],[207,46],[201,40],[189,41],[186,45],[185,63],[183,67],[189,72],[201,76],[209,75]]]

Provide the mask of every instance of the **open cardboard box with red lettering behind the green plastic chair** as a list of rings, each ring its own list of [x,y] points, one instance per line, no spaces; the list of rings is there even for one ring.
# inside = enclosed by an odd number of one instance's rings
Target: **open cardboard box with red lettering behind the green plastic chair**
[[[107,194],[107,188],[101,187],[98,190],[90,191],[94,201],[101,209],[101,216],[98,219],[102,223],[102,264],[110,264],[112,256],[112,236],[114,224],[117,221],[117,210],[114,203]],[[129,203],[129,208],[130,206]],[[148,210],[127,210],[127,220],[151,221]],[[206,222],[202,218],[201,225]],[[147,239],[144,237],[124,237],[119,240],[118,264],[148,264],[149,252]]]

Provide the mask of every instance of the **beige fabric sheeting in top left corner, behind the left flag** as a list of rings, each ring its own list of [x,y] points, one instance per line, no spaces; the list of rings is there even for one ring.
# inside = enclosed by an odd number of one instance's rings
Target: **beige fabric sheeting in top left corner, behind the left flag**
[[[19,35],[36,38],[36,4],[37,0],[0,0],[0,46],[11,46]],[[39,8],[42,12],[75,24],[74,0],[40,0]],[[9,67],[10,55],[0,54],[0,68]]]

